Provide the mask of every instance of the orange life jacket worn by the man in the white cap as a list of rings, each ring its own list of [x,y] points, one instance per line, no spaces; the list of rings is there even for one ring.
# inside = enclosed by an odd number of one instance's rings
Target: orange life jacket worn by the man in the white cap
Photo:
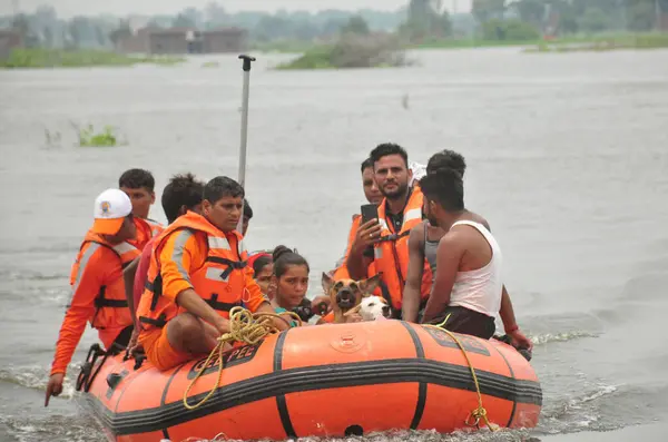
[[[114,245],[107,242],[100,235],[88,232],[84,238],[84,242],[81,243],[77,259],[72,265],[72,271],[70,274],[70,285],[72,286],[75,285],[77,274],[79,273],[79,265],[81,264],[81,257],[85,253],[86,245],[90,243],[99,244],[100,246],[114,252],[120,261],[121,269],[127,267],[141,254],[129,243],[124,242]],[[95,298],[95,314],[90,318],[90,326],[94,328],[119,328],[132,324],[132,317],[130,315],[130,310],[128,308],[128,302],[126,297],[122,273],[120,273],[119,277],[112,283],[102,285],[100,287],[100,291]]]

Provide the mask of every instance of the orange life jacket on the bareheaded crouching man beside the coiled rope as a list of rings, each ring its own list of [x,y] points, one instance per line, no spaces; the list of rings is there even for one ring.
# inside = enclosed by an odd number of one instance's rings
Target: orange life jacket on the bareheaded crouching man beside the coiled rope
[[[188,212],[171,223],[154,244],[148,268],[148,282],[141,295],[137,316],[144,330],[164,327],[168,321],[185,312],[171,299],[163,296],[160,275],[160,252],[167,237],[177,230],[188,229],[195,235],[204,235],[207,251],[204,265],[189,274],[195,293],[225,318],[229,311],[243,305],[246,292],[246,259],[248,253],[243,245],[243,236],[234,230],[237,247],[233,249],[223,232],[212,225],[204,216]],[[186,269],[188,271],[188,269]]]

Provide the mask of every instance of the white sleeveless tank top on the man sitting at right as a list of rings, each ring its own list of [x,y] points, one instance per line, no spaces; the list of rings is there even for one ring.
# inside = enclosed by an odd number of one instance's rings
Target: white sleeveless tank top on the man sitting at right
[[[470,308],[472,311],[495,316],[501,310],[501,248],[492,234],[479,223],[470,220],[456,222],[452,227],[466,225],[478,229],[492,248],[492,259],[482,268],[471,272],[458,272],[450,295],[450,305]],[[452,228],[451,227],[451,228]]]

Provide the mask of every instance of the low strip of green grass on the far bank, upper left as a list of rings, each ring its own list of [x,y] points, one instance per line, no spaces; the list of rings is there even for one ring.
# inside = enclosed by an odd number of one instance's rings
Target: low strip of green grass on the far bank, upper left
[[[186,59],[166,56],[129,56],[92,49],[18,48],[0,61],[3,69],[48,69],[87,67],[127,67],[135,65],[174,66]]]

